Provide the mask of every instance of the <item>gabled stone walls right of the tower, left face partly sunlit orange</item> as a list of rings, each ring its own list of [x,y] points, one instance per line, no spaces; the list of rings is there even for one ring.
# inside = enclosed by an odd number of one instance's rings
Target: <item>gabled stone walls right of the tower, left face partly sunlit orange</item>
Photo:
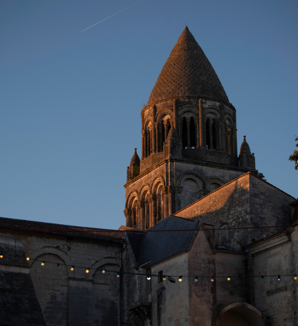
[[[175,216],[202,219],[216,228],[288,225],[293,197],[251,173],[225,184]],[[279,229],[216,231],[216,246],[243,251],[245,246]]]

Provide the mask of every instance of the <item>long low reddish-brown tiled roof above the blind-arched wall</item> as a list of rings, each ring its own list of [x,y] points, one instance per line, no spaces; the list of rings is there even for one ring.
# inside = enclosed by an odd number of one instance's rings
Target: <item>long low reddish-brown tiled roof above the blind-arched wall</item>
[[[92,238],[97,240],[124,242],[124,240],[122,240],[124,231],[121,232],[118,230],[108,230],[95,227],[82,227],[0,217],[0,229],[6,228],[46,232],[56,235],[58,234],[80,238]]]

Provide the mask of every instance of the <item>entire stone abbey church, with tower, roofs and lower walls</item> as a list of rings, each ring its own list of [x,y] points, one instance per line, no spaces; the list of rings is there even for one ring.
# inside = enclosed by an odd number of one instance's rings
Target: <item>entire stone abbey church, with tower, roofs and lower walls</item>
[[[0,217],[0,325],[298,325],[298,200],[245,136],[237,152],[236,110],[187,27],[141,137],[118,230]]]

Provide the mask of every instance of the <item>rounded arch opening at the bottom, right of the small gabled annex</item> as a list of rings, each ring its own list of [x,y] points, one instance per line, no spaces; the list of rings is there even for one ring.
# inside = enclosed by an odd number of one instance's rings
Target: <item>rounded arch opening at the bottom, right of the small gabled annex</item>
[[[219,312],[218,326],[264,326],[264,315],[254,306],[235,302]]]

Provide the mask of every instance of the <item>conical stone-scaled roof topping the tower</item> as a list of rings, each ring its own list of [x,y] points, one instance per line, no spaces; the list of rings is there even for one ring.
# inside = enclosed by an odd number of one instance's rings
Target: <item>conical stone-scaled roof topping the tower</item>
[[[210,61],[187,26],[165,63],[148,104],[181,96],[206,96],[229,102]]]

